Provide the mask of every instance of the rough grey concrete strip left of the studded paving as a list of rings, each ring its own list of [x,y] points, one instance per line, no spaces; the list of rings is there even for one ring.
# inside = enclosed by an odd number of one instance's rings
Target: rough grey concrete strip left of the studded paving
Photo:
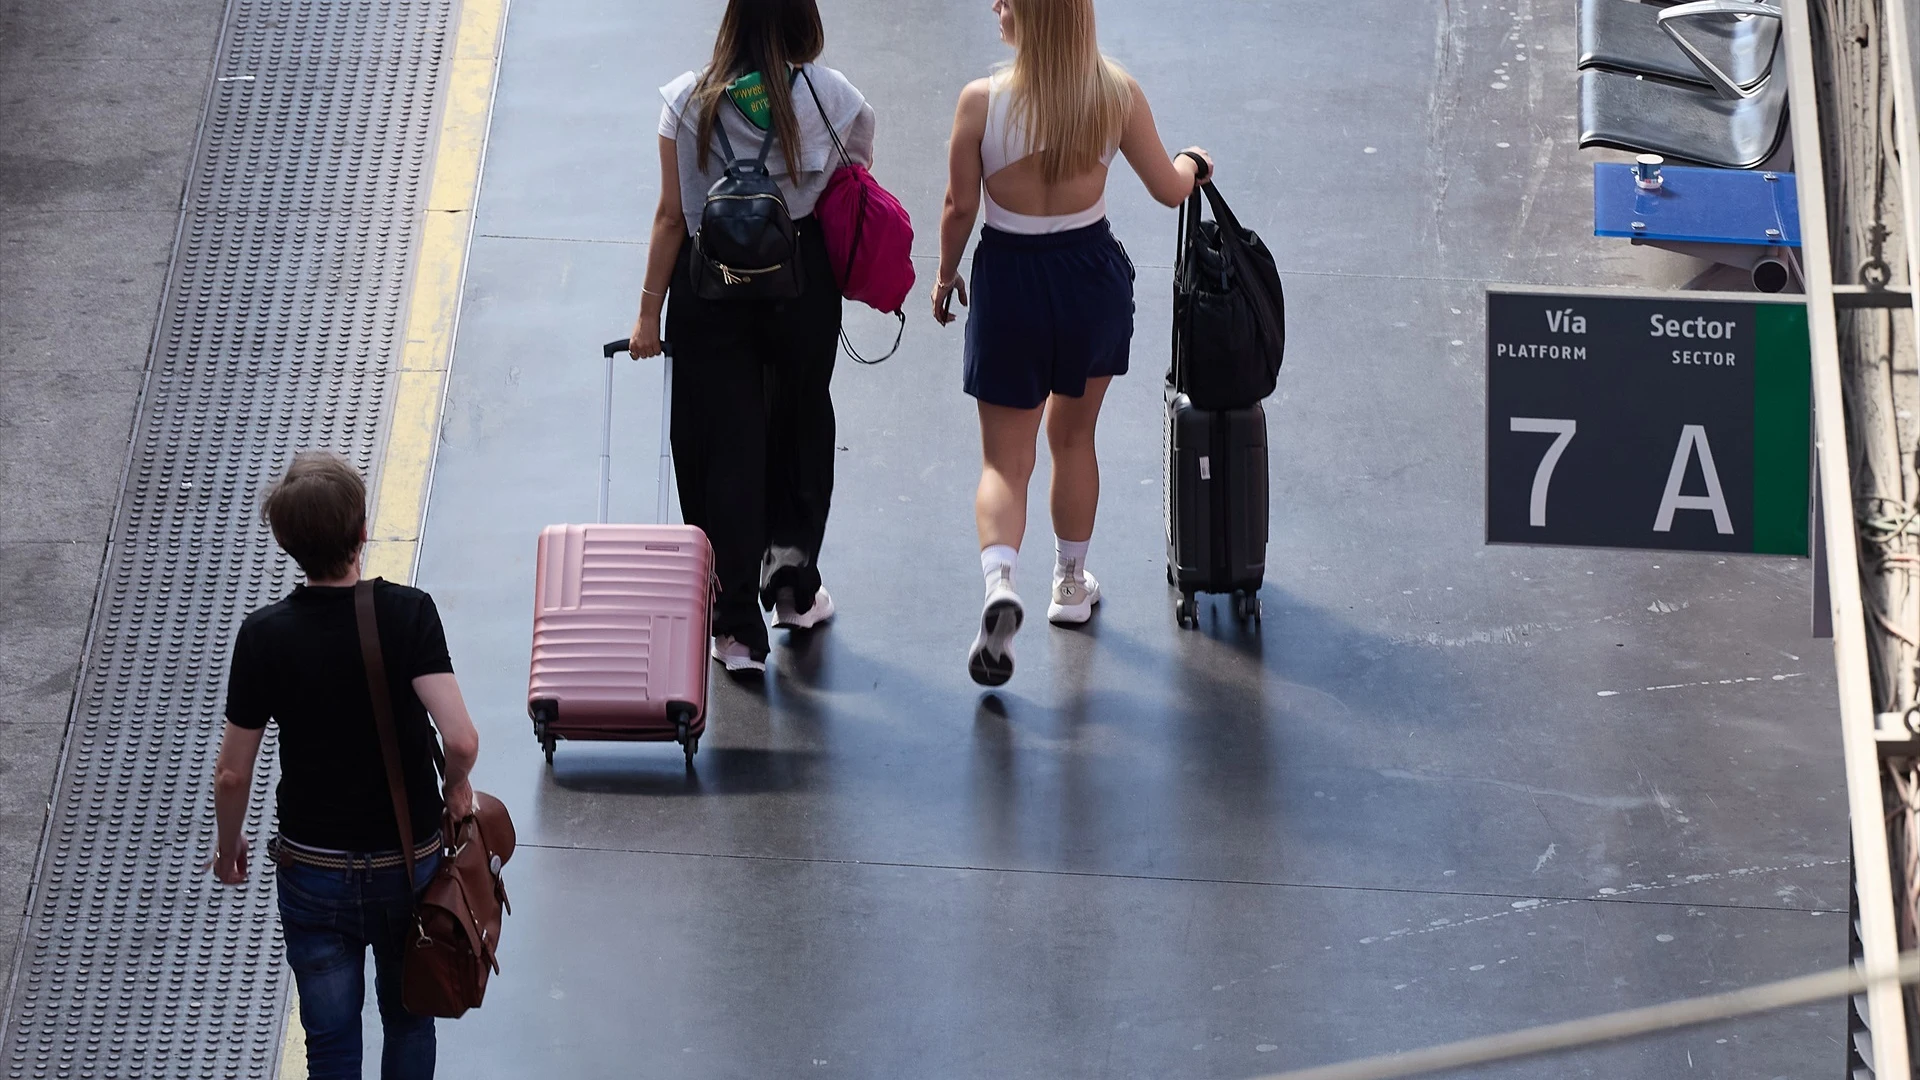
[[[0,1009],[223,10],[0,0]]]

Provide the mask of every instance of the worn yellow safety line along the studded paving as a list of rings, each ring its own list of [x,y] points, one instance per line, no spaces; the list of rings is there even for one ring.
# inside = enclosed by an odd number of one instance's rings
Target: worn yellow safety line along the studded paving
[[[399,382],[386,452],[378,465],[372,523],[367,527],[363,573],[369,577],[411,582],[420,550],[505,17],[507,0],[461,0],[459,6],[453,65],[445,81],[440,135],[434,140],[434,183],[426,196],[426,221],[413,263],[413,300],[407,307]],[[280,1078],[307,1080],[307,1038],[298,1019],[300,1003],[292,994],[288,999]]]

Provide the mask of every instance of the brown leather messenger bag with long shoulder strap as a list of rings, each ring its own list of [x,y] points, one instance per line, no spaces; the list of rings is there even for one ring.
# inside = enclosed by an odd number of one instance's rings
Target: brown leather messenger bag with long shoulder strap
[[[367,665],[374,726],[380,730],[386,786],[394,796],[394,819],[399,822],[399,849],[405,853],[407,882],[413,882],[413,813],[399,769],[394,698],[386,684],[386,659],[380,653],[380,626],[374,621],[369,580],[353,586],[353,617],[359,621],[361,659]],[[438,736],[434,763],[445,769]],[[499,874],[513,857],[513,819],[499,799],[474,792],[472,813],[461,821],[449,815],[442,822],[440,836],[445,844],[440,867],[413,909],[401,1001],[419,1017],[453,1019],[480,1007],[488,976],[499,970],[495,959],[499,924],[503,913],[511,911],[507,886]]]

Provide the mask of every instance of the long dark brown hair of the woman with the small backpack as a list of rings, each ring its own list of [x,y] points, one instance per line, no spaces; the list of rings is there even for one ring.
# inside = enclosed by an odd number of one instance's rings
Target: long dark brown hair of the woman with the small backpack
[[[693,102],[701,110],[699,167],[707,169],[726,85],[749,71],[758,71],[760,85],[766,86],[766,102],[774,108],[774,135],[780,136],[780,154],[787,160],[787,175],[797,177],[801,173],[801,123],[793,113],[793,86],[787,83],[787,69],[818,60],[826,44],[828,31],[820,25],[820,8],[814,0],[728,0],[726,15],[720,17],[720,37],[714,38],[714,58],[693,86]],[[733,150],[753,152],[745,146]]]

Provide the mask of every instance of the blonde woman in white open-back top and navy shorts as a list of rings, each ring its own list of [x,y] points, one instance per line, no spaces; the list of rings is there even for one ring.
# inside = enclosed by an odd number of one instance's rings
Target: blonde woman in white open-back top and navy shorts
[[[1106,223],[1106,177],[1119,152],[1146,190],[1179,206],[1212,173],[1200,148],[1167,158],[1146,94],[1100,54],[1092,0],[995,0],[1014,61],[960,92],[948,144],[947,208],[933,317],[970,302],[960,254],[973,250],[966,392],[979,404],[983,467],[973,498],[987,603],[968,673],[983,686],[1014,675],[1025,607],[1014,563],[1027,532],[1027,480],[1041,421],[1052,448],[1054,575],[1046,619],[1092,619],[1087,573],[1100,463],[1094,423],[1133,340],[1133,263]]]

